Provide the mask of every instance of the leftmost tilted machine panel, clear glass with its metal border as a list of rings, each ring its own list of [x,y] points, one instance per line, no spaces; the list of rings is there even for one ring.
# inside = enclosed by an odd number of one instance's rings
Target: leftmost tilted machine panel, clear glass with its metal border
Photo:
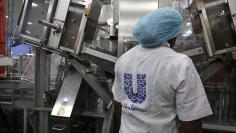
[[[36,43],[40,43],[44,26],[39,24],[39,20],[46,20],[49,0],[26,0],[24,2],[19,32],[21,37]]]

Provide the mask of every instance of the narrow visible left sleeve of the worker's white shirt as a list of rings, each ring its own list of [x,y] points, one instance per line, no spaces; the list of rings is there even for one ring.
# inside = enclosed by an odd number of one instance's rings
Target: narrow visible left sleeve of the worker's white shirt
[[[115,65],[115,80],[112,86],[112,92],[114,95],[114,100],[117,102],[121,102],[121,80],[119,79],[119,72],[118,72],[118,61]]]

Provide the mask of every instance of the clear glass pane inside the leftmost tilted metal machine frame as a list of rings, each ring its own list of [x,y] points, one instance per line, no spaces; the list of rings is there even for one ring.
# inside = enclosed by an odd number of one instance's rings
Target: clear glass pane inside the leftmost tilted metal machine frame
[[[29,2],[23,22],[22,34],[41,39],[43,26],[38,24],[38,21],[40,19],[45,20],[49,3],[49,0],[32,0]]]

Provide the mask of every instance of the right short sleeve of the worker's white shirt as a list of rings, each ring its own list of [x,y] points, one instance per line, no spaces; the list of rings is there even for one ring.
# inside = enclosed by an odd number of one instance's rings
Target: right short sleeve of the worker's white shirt
[[[212,115],[204,87],[191,59],[185,57],[177,69],[176,109],[179,119],[193,121]]]

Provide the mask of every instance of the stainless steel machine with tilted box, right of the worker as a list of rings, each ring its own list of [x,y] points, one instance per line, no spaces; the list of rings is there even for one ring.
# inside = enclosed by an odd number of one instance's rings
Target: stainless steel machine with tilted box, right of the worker
[[[235,132],[235,1],[195,1],[181,9],[184,28],[174,49],[197,68],[214,115],[204,120],[211,132]]]

